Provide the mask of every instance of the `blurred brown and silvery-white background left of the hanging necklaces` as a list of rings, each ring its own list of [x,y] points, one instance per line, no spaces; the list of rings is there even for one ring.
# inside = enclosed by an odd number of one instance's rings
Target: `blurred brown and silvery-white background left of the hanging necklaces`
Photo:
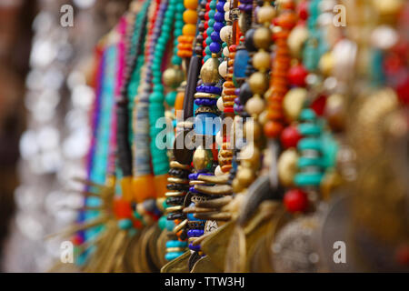
[[[80,197],[87,74],[97,40],[128,0],[0,0],[0,271],[44,272],[60,242],[44,240],[75,219]],[[74,8],[63,27],[62,5]]]

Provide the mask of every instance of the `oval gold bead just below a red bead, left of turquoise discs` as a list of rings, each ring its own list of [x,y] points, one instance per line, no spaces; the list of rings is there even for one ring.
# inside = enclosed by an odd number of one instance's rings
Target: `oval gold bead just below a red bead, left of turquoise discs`
[[[285,150],[277,162],[278,178],[283,186],[292,186],[297,172],[298,154],[294,148]]]

